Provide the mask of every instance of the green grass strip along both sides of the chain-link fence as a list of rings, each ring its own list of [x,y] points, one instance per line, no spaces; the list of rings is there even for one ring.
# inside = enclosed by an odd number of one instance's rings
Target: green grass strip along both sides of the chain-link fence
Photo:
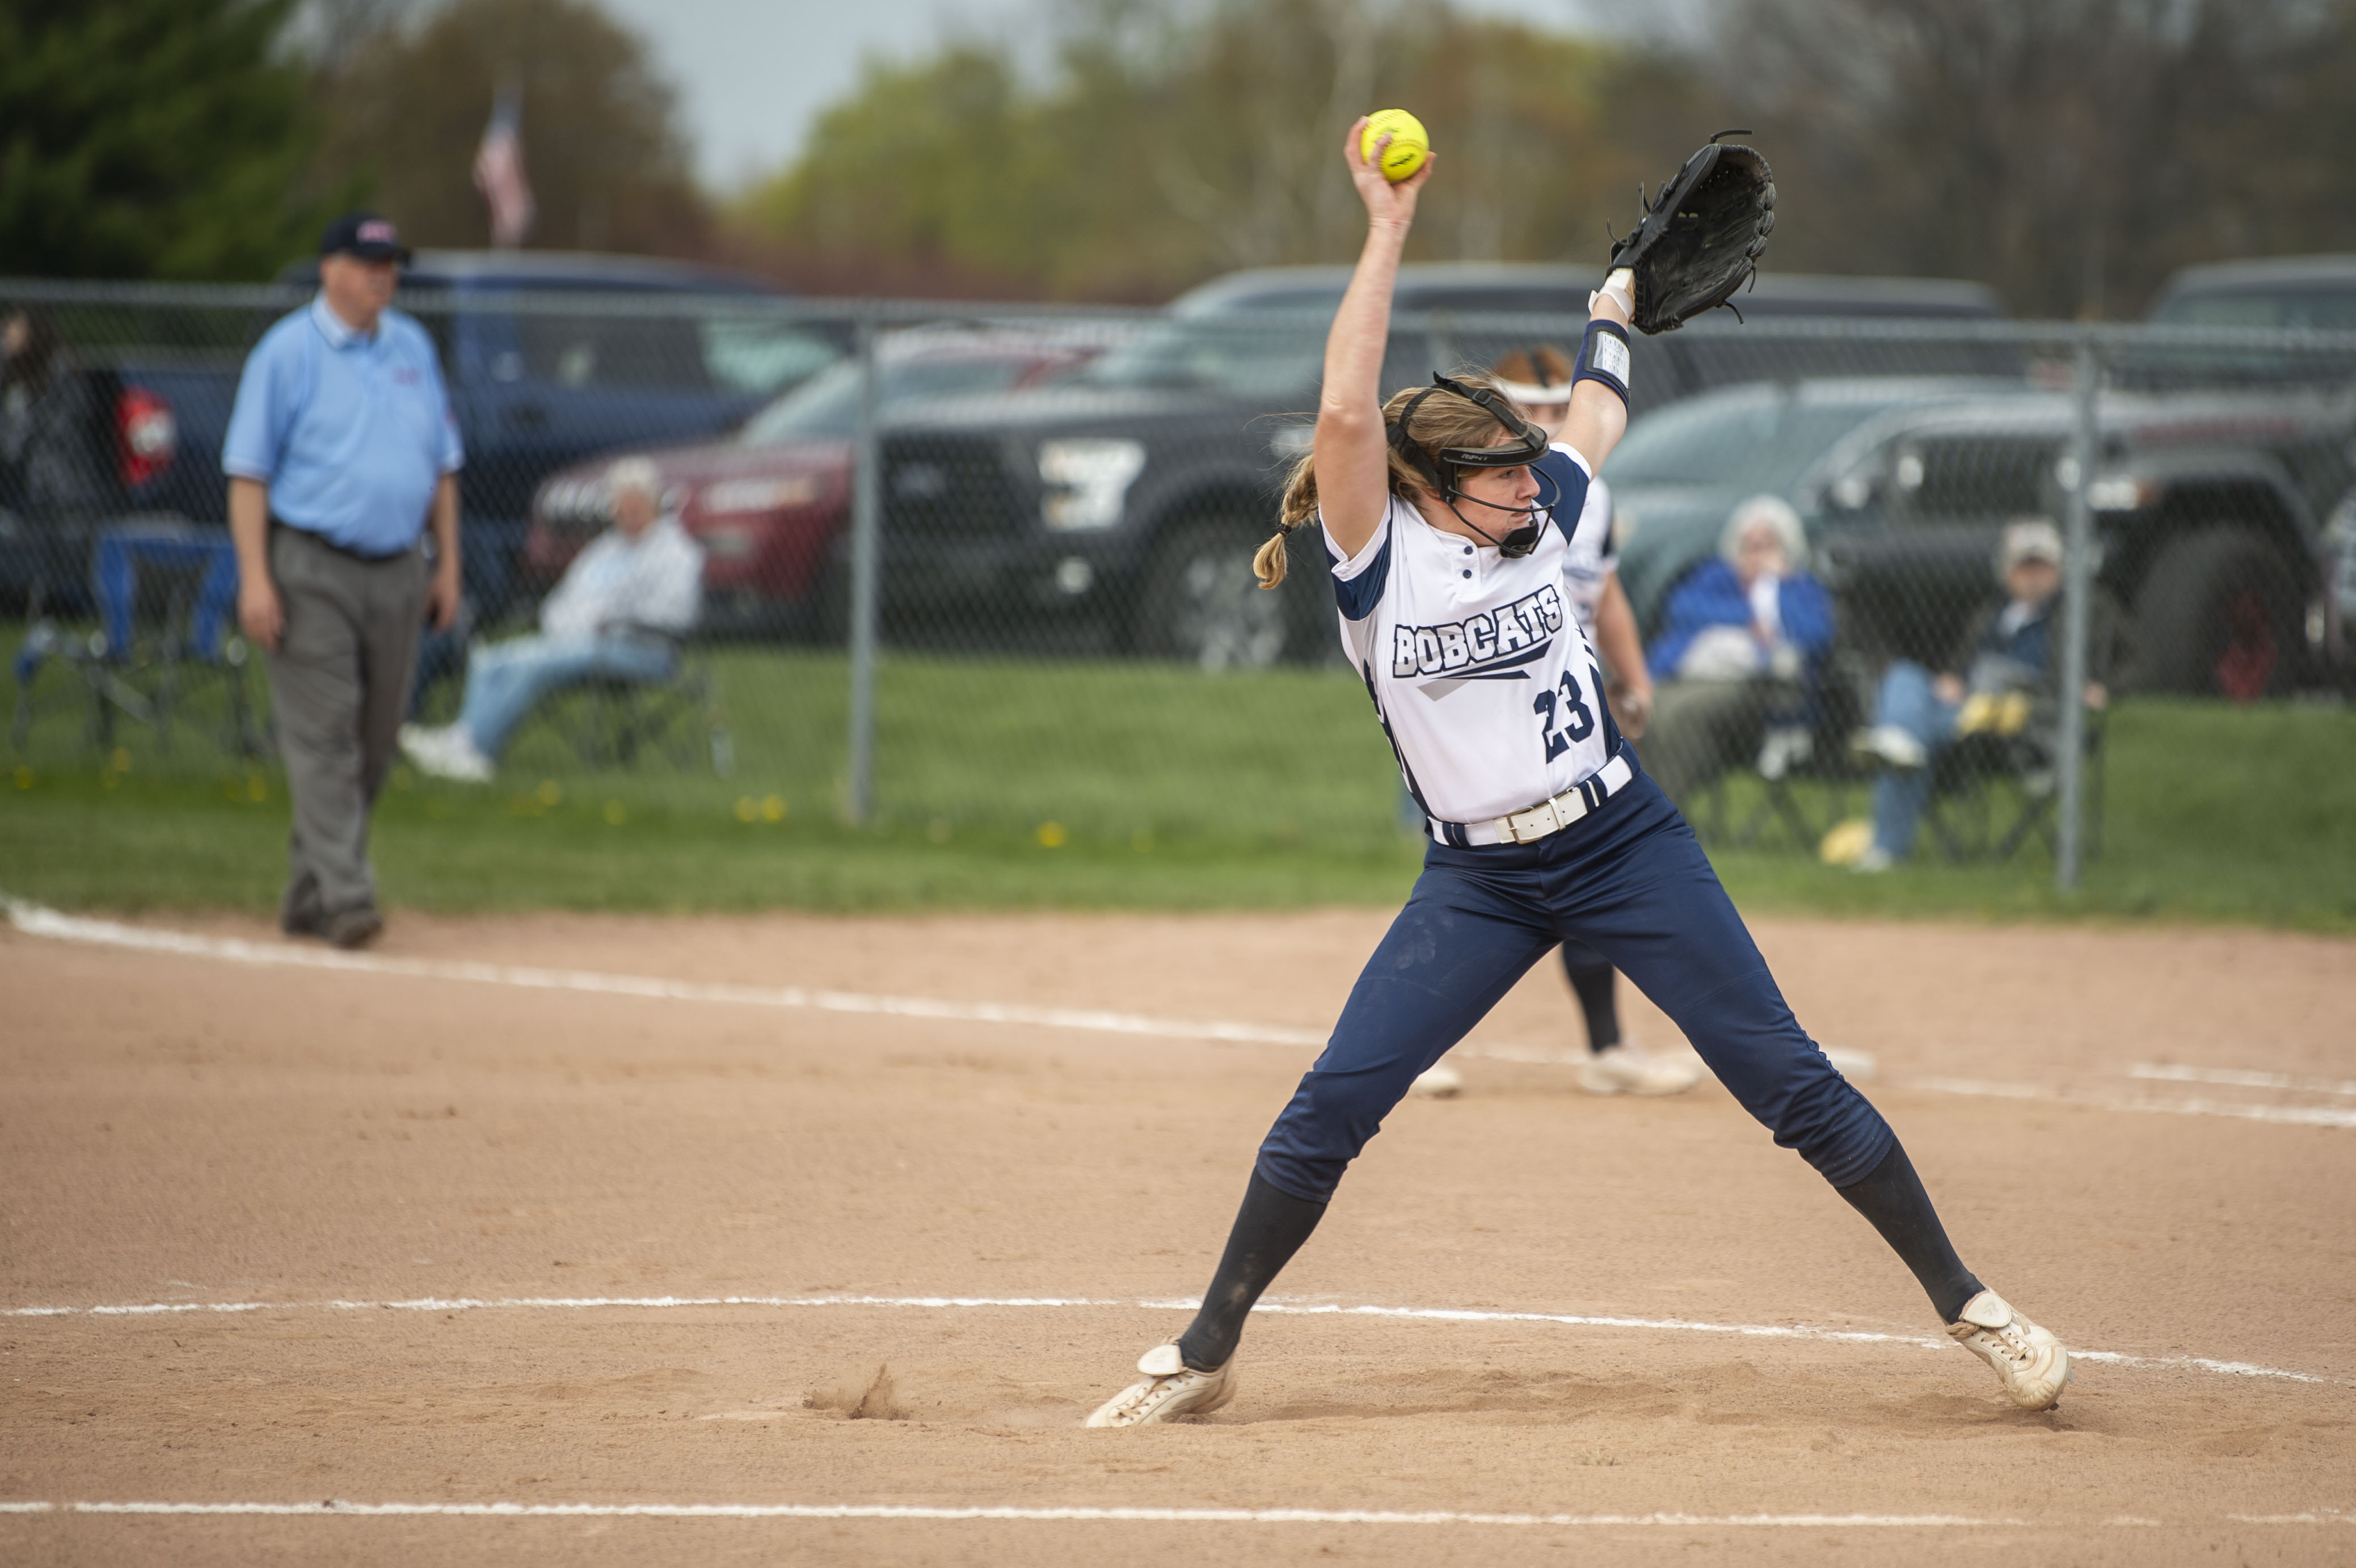
[[[0,779],[0,890],[64,906],[271,909],[285,796],[229,770],[191,697],[167,758],[125,725],[82,742],[47,711]],[[1388,746],[1341,671],[1211,678],[1103,662],[891,657],[879,822],[839,822],[843,662],[733,650],[719,683],[737,770],[584,770],[549,730],[499,786],[396,772],[382,895],[412,909],[1244,909],[1390,904],[1421,848]],[[1736,798],[1736,810],[1741,800]],[[749,819],[747,819],[749,817]],[[2062,895],[2033,848],[1864,878],[1781,850],[1713,855],[1753,913],[2231,921],[2356,932],[2356,713],[2123,704],[2102,855]]]

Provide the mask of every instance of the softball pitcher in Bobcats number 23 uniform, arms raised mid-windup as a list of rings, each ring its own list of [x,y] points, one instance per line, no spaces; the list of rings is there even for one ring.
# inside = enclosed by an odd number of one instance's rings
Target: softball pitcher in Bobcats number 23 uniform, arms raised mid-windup
[[[2050,1408],[2069,1354],[1963,1264],[1890,1123],[1800,1029],[1692,829],[1621,744],[1595,655],[1562,603],[1567,530],[1628,424],[1628,320],[1682,320],[1661,315],[1675,294],[1647,271],[1647,235],[1666,233],[1677,266],[1708,259],[1710,235],[1677,238],[1703,207],[1682,200],[1687,184],[1720,170],[1720,151],[1760,174],[1765,162],[1713,146],[1661,193],[1590,299],[1562,440],[1546,443],[1489,377],[1381,398],[1392,283],[1432,165],[1385,181],[1383,144],[1362,151],[1362,127],[1350,127],[1345,158],[1366,245],[1326,339],[1317,438],[1279,527],[1322,523],[1343,647],[1432,843],[1326,1050],[1260,1142],[1202,1309],[1176,1342],[1145,1351],[1140,1382],[1088,1424],[1202,1415],[1235,1396],[1244,1318],[1317,1229],[1350,1161],[1416,1074],[1564,939],[1593,946],[1668,1012],[1776,1144],[1882,1234],[2012,1401]],[[1739,172],[1743,158],[1725,167]],[[1762,231],[1743,242],[1748,266]],[[1265,584],[1282,582],[1284,534],[1256,565]]]

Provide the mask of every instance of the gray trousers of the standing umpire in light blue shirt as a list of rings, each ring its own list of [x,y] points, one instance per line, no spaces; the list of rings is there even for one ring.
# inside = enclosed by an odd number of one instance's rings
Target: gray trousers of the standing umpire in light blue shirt
[[[271,577],[287,617],[269,655],[271,709],[294,796],[280,918],[294,923],[377,902],[368,812],[410,709],[426,560],[358,560],[273,527]]]

